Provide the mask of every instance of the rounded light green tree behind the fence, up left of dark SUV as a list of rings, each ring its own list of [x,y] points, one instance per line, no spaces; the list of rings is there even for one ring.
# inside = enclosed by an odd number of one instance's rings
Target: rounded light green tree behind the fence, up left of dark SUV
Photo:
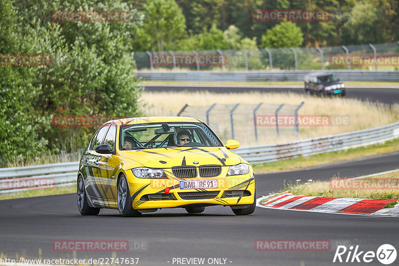
[[[284,21],[262,35],[263,48],[298,47],[303,42],[301,29],[291,21]]]

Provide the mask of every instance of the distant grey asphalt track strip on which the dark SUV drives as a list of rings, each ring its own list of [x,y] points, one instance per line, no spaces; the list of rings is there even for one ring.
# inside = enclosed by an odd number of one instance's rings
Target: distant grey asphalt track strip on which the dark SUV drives
[[[215,93],[242,92],[293,92],[304,94],[303,86],[218,86],[218,85],[146,85],[145,91],[209,91]],[[346,88],[346,97],[363,101],[395,104],[399,102],[398,88]]]

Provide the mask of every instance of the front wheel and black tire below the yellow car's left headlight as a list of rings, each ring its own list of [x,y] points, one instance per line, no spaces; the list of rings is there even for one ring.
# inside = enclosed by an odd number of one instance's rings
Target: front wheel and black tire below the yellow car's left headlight
[[[138,217],[141,212],[133,209],[132,198],[126,176],[122,174],[118,181],[118,211],[122,217]]]

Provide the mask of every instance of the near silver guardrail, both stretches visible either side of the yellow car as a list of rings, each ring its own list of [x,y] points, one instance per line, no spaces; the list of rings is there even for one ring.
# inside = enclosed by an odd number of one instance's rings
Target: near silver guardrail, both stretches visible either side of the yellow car
[[[344,150],[399,137],[399,122],[349,133],[308,138],[281,144],[241,147],[235,153],[250,163],[265,163],[298,156]],[[0,168],[0,193],[52,188],[76,183],[79,162]]]

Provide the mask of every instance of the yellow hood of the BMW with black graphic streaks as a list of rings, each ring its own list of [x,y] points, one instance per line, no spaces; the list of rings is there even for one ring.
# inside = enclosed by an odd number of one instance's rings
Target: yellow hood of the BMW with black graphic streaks
[[[132,159],[143,166],[171,168],[181,165],[235,165],[241,157],[225,147],[168,147],[120,151],[122,157]]]

